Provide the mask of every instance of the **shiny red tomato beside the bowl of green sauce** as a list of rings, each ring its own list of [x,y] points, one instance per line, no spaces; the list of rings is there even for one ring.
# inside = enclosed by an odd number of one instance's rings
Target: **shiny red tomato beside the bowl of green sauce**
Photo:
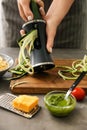
[[[86,93],[85,93],[84,89],[79,88],[79,87],[76,87],[76,88],[72,91],[71,94],[72,94],[73,96],[75,96],[78,101],[83,100],[83,99],[85,98],[85,96],[86,96]]]

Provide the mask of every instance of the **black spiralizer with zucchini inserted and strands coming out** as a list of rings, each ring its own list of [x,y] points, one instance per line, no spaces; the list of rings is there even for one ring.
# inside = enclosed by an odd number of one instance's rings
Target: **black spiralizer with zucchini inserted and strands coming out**
[[[46,49],[46,22],[42,19],[35,0],[31,0],[30,6],[34,20],[28,21],[22,26],[26,35],[18,41],[20,47],[18,64],[10,70],[18,77],[24,74],[32,75],[34,72],[54,67],[51,56]]]

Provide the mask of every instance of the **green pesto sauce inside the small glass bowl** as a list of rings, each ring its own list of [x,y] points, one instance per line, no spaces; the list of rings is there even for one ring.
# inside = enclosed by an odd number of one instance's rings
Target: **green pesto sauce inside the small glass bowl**
[[[52,94],[47,98],[50,105],[53,106],[68,106],[72,104],[72,97],[65,99],[65,94]]]

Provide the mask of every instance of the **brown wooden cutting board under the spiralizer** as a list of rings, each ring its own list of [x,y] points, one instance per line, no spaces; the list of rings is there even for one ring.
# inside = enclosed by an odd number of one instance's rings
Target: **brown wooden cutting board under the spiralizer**
[[[55,65],[61,66],[71,66],[72,62],[73,59],[54,60]],[[19,82],[22,82],[22,84],[17,85]],[[53,68],[33,76],[26,75],[20,79],[12,80],[10,89],[15,94],[45,94],[52,90],[68,90],[73,82],[74,80],[63,80],[58,75],[58,68]],[[79,83],[79,87],[84,88],[87,93],[87,76]]]

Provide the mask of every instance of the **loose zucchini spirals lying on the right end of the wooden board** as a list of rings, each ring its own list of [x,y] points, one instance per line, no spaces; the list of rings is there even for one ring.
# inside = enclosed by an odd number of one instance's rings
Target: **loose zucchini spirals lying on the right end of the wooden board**
[[[64,80],[77,79],[82,71],[87,72],[87,55],[83,59],[77,59],[72,62],[70,66],[56,66],[59,68],[58,75]]]

